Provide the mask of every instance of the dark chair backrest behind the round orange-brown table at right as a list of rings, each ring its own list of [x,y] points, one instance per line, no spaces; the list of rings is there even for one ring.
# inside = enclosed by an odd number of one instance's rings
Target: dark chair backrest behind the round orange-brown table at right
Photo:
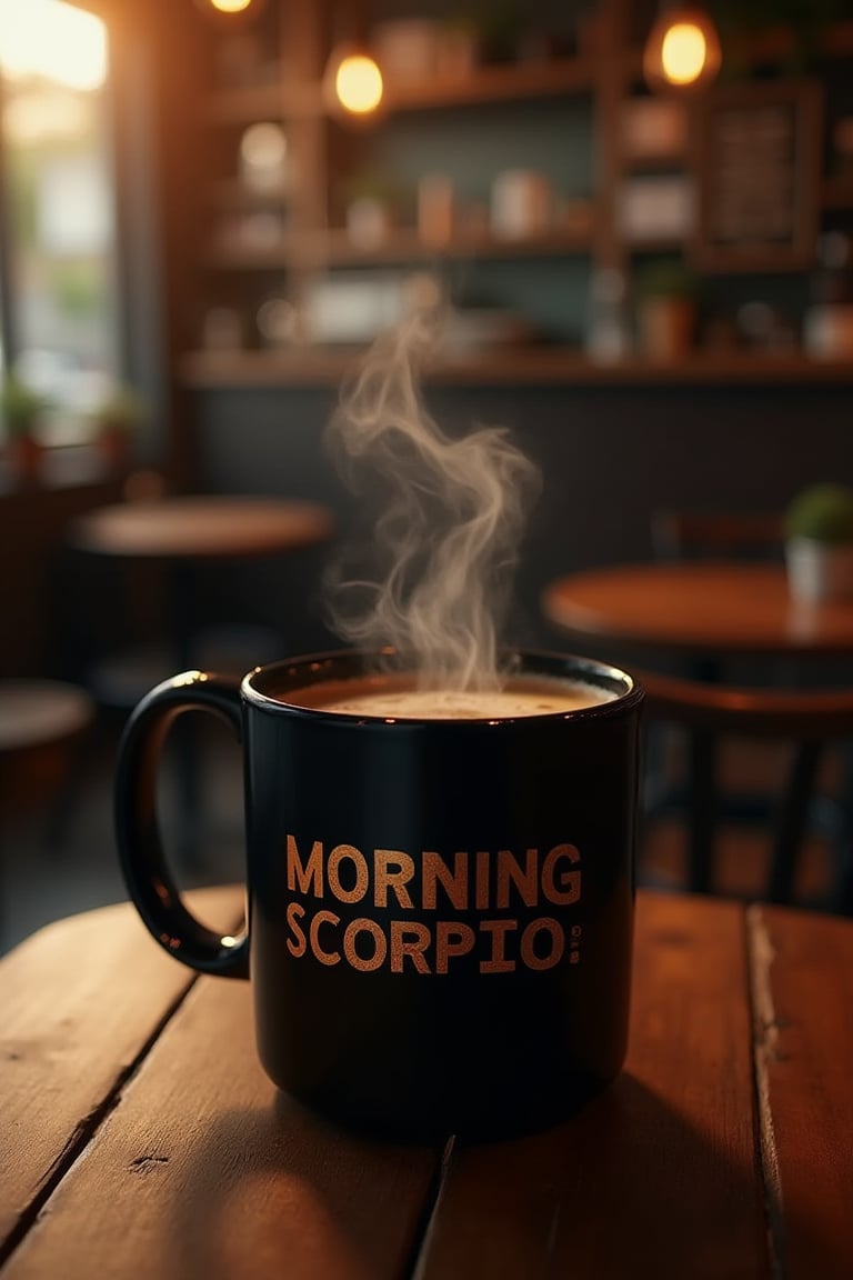
[[[656,559],[781,557],[784,522],[772,513],[660,509],[652,513]]]

